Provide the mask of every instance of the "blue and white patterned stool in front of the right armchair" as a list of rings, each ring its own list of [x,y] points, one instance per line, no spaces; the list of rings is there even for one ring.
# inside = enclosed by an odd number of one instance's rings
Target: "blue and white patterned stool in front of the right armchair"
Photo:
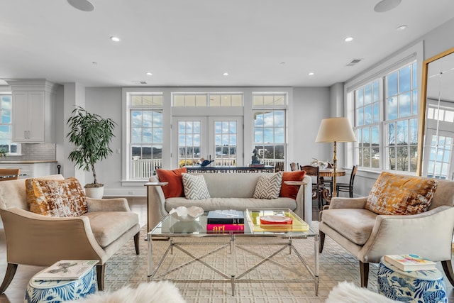
[[[440,270],[406,272],[382,258],[377,277],[378,292],[389,299],[414,303],[448,303]]]

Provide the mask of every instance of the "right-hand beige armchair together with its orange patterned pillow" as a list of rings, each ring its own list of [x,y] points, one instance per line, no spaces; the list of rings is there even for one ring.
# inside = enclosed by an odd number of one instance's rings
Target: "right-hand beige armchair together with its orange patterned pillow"
[[[454,181],[382,172],[369,197],[331,199],[320,212],[319,231],[320,252],[327,235],[358,258],[362,287],[367,287],[369,263],[408,253],[441,261],[454,285]]]

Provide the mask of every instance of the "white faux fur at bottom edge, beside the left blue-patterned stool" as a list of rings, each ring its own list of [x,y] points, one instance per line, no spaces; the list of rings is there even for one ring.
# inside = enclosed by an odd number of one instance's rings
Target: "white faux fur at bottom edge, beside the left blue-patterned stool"
[[[115,292],[96,292],[73,303],[185,303],[175,285],[168,281],[141,283],[137,288],[122,287]]]

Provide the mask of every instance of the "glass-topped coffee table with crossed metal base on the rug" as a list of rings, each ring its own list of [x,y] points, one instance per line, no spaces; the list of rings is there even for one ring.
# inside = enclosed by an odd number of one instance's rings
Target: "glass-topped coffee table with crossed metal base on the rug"
[[[273,263],[275,266],[282,268],[283,270],[289,270],[291,272],[296,272],[298,277],[287,279],[283,278],[272,278],[266,279],[270,282],[313,282],[315,294],[319,293],[319,234],[315,233],[306,222],[304,222],[297,214],[290,209],[247,209],[243,211],[244,215],[244,230],[236,231],[223,231],[222,228],[217,228],[216,231],[207,231],[207,215],[208,211],[205,211],[204,214],[196,218],[194,221],[179,221],[174,217],[167,215],[162,221],[152,231],[147,235],[148,238],[148,281],[151,280],[171,280],[172,282],[231,282],[231,291],[232,295],[235,294],[235,285],[237,282],[260,282],[263,281],[259,278],[248,278],[248,273],[257,269],[260,265],[264,263]],[[274,221],[265,221],[265,219],[273,218],[279,219],[279,216],[291,218],[291,224],[282,224],[281,222],[273,223]],[[266,224],[265,224],[266,222]],[[225,228],[224,228],[225,229]],[[242,228],[236,228],[242,229]],[[276,238],[277,241],[265,241],[265,244],[262,241],[262,244],[268,247],[273,246],[273,252],[267,255],[260,255],[258,251],[254,248],[255,245],[258,245],[258,241],[263,238],[272,237]],[[188,241],[187,238],[192,238]],[[243,238],[247,238],[247,241],[240,241]],[[314,238],[314,263],[311,265],[306,262],[304,255],[302,255],[299,250],[294,246],[293,239],[297,238]],[[216,241],[210,241],[216,240]],[[224,241],[225,239],[225,241]],[[273,240],[276,240],[273,239]],[[168,243],[167,249],[160,257],[160,260],[157,261],[156,265],[153,265],[153,243],[154,241],[165,240]],[[240,242],[239,244],[237,242]],[[206,251],[208,244],[213,245],[214,248]],[[194,246],[199,245],[204,247],[204,250],[201,251],[201,255],[196,255],[192,253],[184,246]],[[276,246],[276,247],[275,247]],[[218,253],[222,249],[230,249],[228,252],[229,265],[226,270],[220,270],[216,268],[216,264],[209,263],[210,255]],[[163,272],[158,272],[162,267],[166,258],[173,254],[173,250],[180,250],[185,255],[189,256],[189,260],[185,260],[184,263],[178,264],[175,266],[166,265]],[[303,267],[299,267],[296,264],[286,265],[282,264],[282,258],[279,259],[279,256],[282,256],[282,252],[288,249],[288,254],[296,255],[295,260],[298,260]],[[241,272],[237,272],[238,264],[236,255],[238,250],[243,250],[246,254],[254,255],[255,257],[260,257],[260,261],[252,264],[246,265],[248,268],[241,268]],[[278,255],[280,254],[280,255]],[[155,256],[156,257],[156,256]],[[254,258],[255,258],[254,257]],[[276,258],[273,258],[276,257]],[[275,260],[277,259],[277,260]],[[184,266],[192,264],[194,262],[199,262],[204,265],[206,268],[217,273],[216,279],[189,279],[183,278],[179,279],[178,277],[166,278],[172,272],[176,270],[181,270]],[[188,277],[188,275],[184,275]],[[190,276],[190,274],[189,274]]]

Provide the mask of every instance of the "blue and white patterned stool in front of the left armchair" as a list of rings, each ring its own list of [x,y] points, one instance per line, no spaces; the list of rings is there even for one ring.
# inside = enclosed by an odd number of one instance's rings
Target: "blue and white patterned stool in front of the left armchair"
[[[96,284],[96,266],[79,280],[34,280],[28,282],[26,303],[63,302],[86,297],[98,289]]]

